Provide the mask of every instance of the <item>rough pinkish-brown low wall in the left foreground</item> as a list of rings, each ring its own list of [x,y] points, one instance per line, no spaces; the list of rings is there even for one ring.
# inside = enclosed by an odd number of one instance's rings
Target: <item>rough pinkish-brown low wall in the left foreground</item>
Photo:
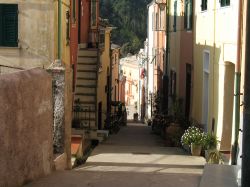
[[[0,186],[51,173],[52,81],[41,69],[0,76]]]

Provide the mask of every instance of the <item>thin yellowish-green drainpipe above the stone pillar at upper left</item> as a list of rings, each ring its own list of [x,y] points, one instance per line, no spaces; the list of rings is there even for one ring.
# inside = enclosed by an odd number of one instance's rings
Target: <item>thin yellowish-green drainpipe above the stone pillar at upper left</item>
[[[58,0],[58,38],[57,38],[57,58],[61,59],[62,57],[62,46],[61,46],[61,38],[62,38],[62,0]]]

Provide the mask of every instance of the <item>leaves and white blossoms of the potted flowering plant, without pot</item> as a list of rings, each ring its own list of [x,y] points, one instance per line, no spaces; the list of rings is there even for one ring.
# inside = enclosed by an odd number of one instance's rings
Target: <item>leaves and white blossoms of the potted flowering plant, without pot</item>
[[[196,145],[204,145],[205,134],[204,132],[195,126],[189,127],[185,130],[181,137],[181,144],[190,146],[192,143]]]

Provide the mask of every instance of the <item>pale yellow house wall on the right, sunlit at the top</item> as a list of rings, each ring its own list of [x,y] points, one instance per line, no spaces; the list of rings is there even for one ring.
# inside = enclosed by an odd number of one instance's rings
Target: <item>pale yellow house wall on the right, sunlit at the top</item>
[[[230,150],[233,123],[234,64],[237,54],[238,1],[220,7],[219,1],[208,1],[208,10],[195,5],[194,17],[194,91],[192,117],[202,121],[203,54],[210,54],[208,130],[212,119],[221,140],[221,149]]]

